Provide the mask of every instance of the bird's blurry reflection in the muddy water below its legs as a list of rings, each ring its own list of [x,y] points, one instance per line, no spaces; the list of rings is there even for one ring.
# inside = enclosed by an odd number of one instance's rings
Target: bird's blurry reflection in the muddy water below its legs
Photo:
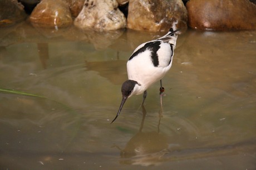
[[[127,142],[124,149],[114,146],[120,150],[121,160],[123,164],[140,164],[142,166],[157,165],[161,162],[159,159],[168,152],[168,137],[160,134],[161,117],[163,117],[163,109],[159,110],[159,122],[157,132],[142,132],[144,120],[146,117],[146,109],[143,105],[142,120],[139,132]]]

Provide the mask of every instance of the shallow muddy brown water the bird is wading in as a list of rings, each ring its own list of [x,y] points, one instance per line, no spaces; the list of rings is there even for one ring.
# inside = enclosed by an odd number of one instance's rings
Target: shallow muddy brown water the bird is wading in
[[[1,169],[255,169],[255,31],[179,35],[163,110],[157,82],[110,124],[127,59],[159,36],[0,28]]]

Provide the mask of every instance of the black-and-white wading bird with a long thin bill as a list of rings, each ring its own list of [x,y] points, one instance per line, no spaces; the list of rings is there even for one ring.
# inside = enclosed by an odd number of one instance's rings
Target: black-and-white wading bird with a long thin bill
[[[171,68],[178,38],[175,33],[179,30],[170,28],[163,37],[142,43],[131,54],[126,64],[128,80],[121,87],[122,101],[117,115],[111,123],[117,119],[129,97],[143,93],[141,104],[143,105],[147,96],[147,88],[156,81],[160,80],[160,95],[163,95],[162,79]]]

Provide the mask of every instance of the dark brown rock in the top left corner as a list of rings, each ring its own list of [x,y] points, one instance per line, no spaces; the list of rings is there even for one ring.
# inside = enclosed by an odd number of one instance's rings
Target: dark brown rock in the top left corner
[[[0,27],[16,24],[25,20],[27,15],[17,0],[0,1]]]

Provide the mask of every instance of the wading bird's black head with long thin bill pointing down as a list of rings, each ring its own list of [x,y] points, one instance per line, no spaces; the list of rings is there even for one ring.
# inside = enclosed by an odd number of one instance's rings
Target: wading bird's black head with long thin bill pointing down
[[[131,96],[132,91],[134,91],[134,87],[135,87],[136,84],[138,84],[138,83],[137,83],[137,81],[134,81],[134,80],[126,80],[122,84],[122,88],[121,88],[121,91],[122,91],[121,105],[119,107],[119,110],[117,112],[117,115],[116,115],[115,119],[112,122],[114,122],[116,120],[117,116],[120,114],[120,112],[122,110],[122,106],[124,106],[125,101],[128,99],[128,97]]]

